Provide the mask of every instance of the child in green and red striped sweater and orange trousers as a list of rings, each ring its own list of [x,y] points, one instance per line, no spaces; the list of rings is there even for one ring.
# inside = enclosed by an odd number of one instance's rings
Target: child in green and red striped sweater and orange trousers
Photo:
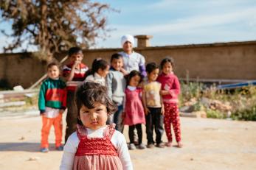
[[[41,152],[49,152],[48,136],[52,125],[55,128],[55,147],[63,150],[62,113],[66,109],[66,83],[60,80],[60,69],[56,63],[47,65],[48,78],[41,85],[38,107],[42,116]]]

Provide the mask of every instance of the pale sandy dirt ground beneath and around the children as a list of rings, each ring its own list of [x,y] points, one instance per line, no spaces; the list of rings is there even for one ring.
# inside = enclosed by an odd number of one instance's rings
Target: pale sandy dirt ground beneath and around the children
[[[128,140],[127,131],[125,127]],[[256,169],[256,122],[181,118],[181,132],[181,149],[173,146],[131,151],[134,169]],[[54,150],[53,133],[52,129],[52,150],[41,153],[39,116],[1,117],[0,169],[58,169],[62,152]]]

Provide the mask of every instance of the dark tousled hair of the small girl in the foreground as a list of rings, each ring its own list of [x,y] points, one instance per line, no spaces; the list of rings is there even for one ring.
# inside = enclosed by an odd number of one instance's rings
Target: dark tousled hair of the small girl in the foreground
[[[95,102],[105,105],[108,116],[117,111],[117,105],[108,98],[107,88],[97,82],[84,82],[77,88],[75,95],[75,103],[77,106],[77,118],[80,117],[80,108],[82,105],[89,109],[94,108]],[[77,119],[77,123],[83,125]]]

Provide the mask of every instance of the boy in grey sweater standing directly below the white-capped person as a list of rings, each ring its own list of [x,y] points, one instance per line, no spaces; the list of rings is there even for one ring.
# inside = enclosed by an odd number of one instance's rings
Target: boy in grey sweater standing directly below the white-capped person
[[[111,56],[111,68],[106,77],[108,96],[118,106],[117,112],[114,113],[114,117],[110,117],[109,122],[114,122],[117,125],[116,130],[120,132],[123,131],[122,104],[125,96],[125,77],[120,71],[122,65],[122,55],[113,54]]]

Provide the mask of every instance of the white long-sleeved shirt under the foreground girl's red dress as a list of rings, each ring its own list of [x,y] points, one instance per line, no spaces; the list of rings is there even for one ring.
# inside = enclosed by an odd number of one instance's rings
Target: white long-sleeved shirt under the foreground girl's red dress
[[[102,127],[98,130],[90,130],[86,128],[87,134],[89,138],[103,138],[103,132],[105,127]],[[64,146],[64,152],[60,164],[60,170],[72,170],[73,162],[75,158],[75,153],[77,152],[77,146],[80,140],[77,137],[77,132],[73,132],[72,135],[69,136],[68,141]],[[122,169],[124,170],[132,170],[133,166],[131,163],[131,157],[128,152],[128,147],[125,141],[125,136],[122,135],[121,132],[115,130],[114,134],[111,138],[111,143],[117,149],[118,157],[120,157],[122,163]]]

